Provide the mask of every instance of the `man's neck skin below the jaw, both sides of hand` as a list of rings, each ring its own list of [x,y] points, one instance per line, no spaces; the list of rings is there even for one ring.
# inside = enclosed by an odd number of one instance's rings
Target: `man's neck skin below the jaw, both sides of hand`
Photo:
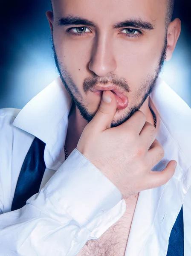
[[[140,111],[142,111],[145,114],[146,121],[150,122],[154,126],[154,119],[150,111],[150,108],[148,106],[148,101],[149,101],[149,97],[140,108]],[[67,137],[66,137],[66,143],[65,143],[67,147],[68,155],[71,154],[71,152],[77,147],[78,141],[86,125],[87,125],[86,120],[81,116],[78,108],[73,102],[72,108],[68,116],[68,129],[67,129]]]

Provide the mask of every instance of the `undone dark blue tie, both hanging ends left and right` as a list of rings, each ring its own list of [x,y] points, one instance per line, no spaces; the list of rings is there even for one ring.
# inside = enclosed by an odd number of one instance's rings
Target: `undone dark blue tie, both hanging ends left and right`
[[[32,142],[28,153],[26,154],[12,202],[12,211],[20,209],[26,204],[26,201],[39,192],[44,171],[45,143],[37,137]],[[168,244],[167,256],[184,256],[184,226],[183,210],[181,208],[177,220],[171,230]]]

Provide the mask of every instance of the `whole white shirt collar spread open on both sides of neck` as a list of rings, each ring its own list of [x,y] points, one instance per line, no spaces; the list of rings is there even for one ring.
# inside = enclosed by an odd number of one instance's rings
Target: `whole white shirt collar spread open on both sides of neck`
[[[191,166],[191,109],[160,77],[150,94],[149,104],[156,113],[159,137],[169,135],[172,138],[174,146],[185,157],[184,168],[188,168]],[[56,170],[65,160],[64,144],[71,105],[72,99],[58,77],[24,106],[13,122],[14,126],[46,143],[46,168]]]

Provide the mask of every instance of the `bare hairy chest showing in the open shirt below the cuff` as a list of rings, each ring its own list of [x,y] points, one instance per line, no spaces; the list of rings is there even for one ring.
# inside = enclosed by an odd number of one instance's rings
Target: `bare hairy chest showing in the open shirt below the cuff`
[[[89,240],[77,256],[124,256],[138,195],[128,198],[122,218],[100,238]]]

